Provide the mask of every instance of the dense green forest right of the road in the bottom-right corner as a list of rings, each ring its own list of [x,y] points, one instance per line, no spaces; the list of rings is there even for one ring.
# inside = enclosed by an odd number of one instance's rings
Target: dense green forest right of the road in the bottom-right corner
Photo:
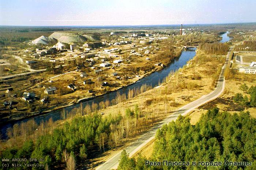
[[[256,119],[249,112],[230,114],[218,108],[208,110],[196,123],[179,116],[165,124],[155,136],[150,161],[222,162],[209,169],[256,169]],[[129,158],[123,151],[118,170],[131,169],[206,169],[205,166],[146,166],[146,158]],[[251,162],[251,166],[225,166],[224,161]]]

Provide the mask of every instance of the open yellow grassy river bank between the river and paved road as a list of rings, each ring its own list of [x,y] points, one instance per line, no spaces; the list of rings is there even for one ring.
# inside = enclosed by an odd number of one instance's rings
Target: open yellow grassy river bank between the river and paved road
[[[154,124],[157,124],[165,117],[172,115],[173,111],[178,108],[214,90],[214,73],[222,67],[224,60],[224,55],[218,55],[213,58],[210,55],[204,54],[202,51],[198,51],[196,56],[186,65],[173,75],[169,75],[166,82],[161,86],[148,90],[118,106],[103,109],[100,112],[104,112],[106,116],[118,113],[125,116],[125,110],[127,108],[134,108],[135,104],[138,104],[143,116],[147,115],[146,117],[150,117],[149,115],[152,114],[155,117],[155,122],[152,123],[152,126],[154,126]],[[148,127],[148,129],[150,129],[150,127]],[[148,131],[145,130],[140,136],[143,134],[148,134]],[[125,143],[124,146],[120,146],[118,150],[125,149],[136,139],[138,139],[138,137],[129,138],[129,142]],[[140,149],[134,157],[142,154],[149,158],[153,145],[154,141]],[[108,160],[115,152],[116,151],[109,150],[108,153],[103,154],[102,157],[91,160],[91,165],[98,165],[100,162]]]

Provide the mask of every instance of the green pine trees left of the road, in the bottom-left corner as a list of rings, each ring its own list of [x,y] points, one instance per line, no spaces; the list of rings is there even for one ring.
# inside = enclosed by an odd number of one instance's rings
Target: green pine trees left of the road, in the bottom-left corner
[[[32,139],[26,139],[25,136],[25,142],[21,147],[8,147],[1,152],[0,157],[10,158],[10,160],[12,158],[38,158],[38,160],[43,158],[44,161],[39,163],[47,167],[58,168],[66,164],[66,167],[75,168],[78,163],[86,161],[88,152],[98,144],[101,145],[102,150],[106,147],[105,145],[112,145],[110,141],[107,144],[107,137],[110,135],[116,137],[110,129],[113,129],[121,119],[121,115],[103,119],[100,114],[77,117],[70,122],[65,122],[62,127],[52,130],[51,133],[36,137],[35,142]],[[17,135],[17,131],[18,129],[14,131],[14,136]],[[13,169],[16,168],[13,167]]]

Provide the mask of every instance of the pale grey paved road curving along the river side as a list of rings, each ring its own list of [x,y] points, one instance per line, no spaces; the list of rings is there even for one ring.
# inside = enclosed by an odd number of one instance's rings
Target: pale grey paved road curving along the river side
[[[233,48],[233,47],[231,47],[231,48]],[[148,142],[150,142],[152,139],[154,139],[155,134],[157,133],[157,130],[160,127],[162,127],[163,124],[171,122],[172,120],[176,120],[179,115],[184,116],[184,115],[188,114],[193,109],[195,109],[213,99],[216,99],[219,95],[222,94],[222,92],[225,88],[224,70],[229,61],[230,51],[228,52],[227,57],[226,57],[226,62],[224,64],[224,66],[222,67],[221,74],[219,76],[216,89],[214,91],[212,91],[210,94],[204,95],[201,98],[179,108],[178,110],[173,111],[172,115],[170,115],[169,117],[164,119],[162,122],[158,123],[156,126],[152,127],[146,134],[142,135],[139,139],[137,139],[135,142],[133,142],[130,146],[125,148],[125,150],[127,151],[127,153],[129,153],[130,156],[135,154],[138,150],[140,150]],[[109,158],[103,164],[99,165],[96,169],[97,170],[117,169],[120,155],[121,155],[121,151],[118,152],[117,154],[113,155],[111,158]]]

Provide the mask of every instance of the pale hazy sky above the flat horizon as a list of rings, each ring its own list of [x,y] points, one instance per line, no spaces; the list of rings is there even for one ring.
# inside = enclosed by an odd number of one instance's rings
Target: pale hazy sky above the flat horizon
[[[256,22],[256,0],[0,0],[0,25]]]

